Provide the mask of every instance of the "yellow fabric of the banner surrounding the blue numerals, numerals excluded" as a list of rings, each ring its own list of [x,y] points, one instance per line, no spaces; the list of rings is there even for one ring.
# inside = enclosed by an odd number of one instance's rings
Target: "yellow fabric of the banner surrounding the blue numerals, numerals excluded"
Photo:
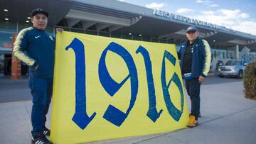
[[[94,112],[97,113],[83,130],[73,121],[76,83],[75,52],[70,49],[65,50],[74,38],[78,38],[85,46],[86,111],[88,116],[92,116]],[[131,99],[130,78],[114,96],[110,96],[102,87],[98,75],[98,65],[102,52],[112,42],[122,45],[122,47],[132,55],[138,74],[139,85],[137,100],[121,126],[115,126],[110,123],[110,121],[103,118],[103,116],[110,104],[120,111],[127,111]],[[163,112],[155,123],[146,116],[149,109],[149,94],[144,57],[142,54],[136,53],[140,45],[146,48],[151,58],[156,94],[156,109],[157,111],[163,109]],[[183,95],[183,113],[178,121],[175,121],[174,118],[170,116],[164,101],[161,84],[161,68],[165,50],[176,57],[175,66],[165,58],[166,82],[168,83],[174,75],[174,72],[176,72],[178,79],[181,81],[181,86],[183,87],[175,45],[107,38],[65,31],[58,33],[55,48],[53,111],[51,116],[50,140],[55,144],[85,143],[97,140],[164,133],[186,128],[188,123],[188,108],[185,95]],[[122,82],[122,80],[127,77],[127,74],[129,74],[127,65],[122,57],[114,52],[107,52],[106,65],[112,79],[116,82]],[[171,82],[171,86],[168,90],[174,106],[181,110],[181,94],[178,91],[178,87],[174,82]]]

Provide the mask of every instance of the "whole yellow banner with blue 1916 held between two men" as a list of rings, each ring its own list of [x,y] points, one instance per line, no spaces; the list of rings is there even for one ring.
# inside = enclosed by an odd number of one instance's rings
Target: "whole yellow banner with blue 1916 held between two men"
[[[85,143],[185,128],[175,45],[58,33],[53,143]]]

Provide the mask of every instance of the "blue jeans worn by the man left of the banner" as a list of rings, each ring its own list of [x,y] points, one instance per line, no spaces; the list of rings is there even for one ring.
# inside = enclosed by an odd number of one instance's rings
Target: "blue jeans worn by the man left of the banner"
[[[46,124],[46,114],[50,106],[50,100],[53,95],[53,79],[38,78],[29,76],[28,85],[32,94],[32,112],[31,121],[33,130],[32,136],[42,133]]]

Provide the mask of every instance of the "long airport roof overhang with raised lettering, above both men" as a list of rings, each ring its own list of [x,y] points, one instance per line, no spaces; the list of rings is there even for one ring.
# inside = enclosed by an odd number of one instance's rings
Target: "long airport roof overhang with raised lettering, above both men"
[[[19,9],[19,6],[23,6]],[[150,38],[173,40],[181,43],[186,40],[186,28],[196,26],[200,36],[216,47],[247,46],[256,51],[256,36],[230,30],[223,26],[194,20],[184,16],[171,18],[157,16],[154,9],[128,4],[115,0],[37,0],[15,1],[1,0],[0,9],[10,9],[10,18],[14,21],[25,21],[32,9],[42,7],[50,13],[49,23],[52,26],[63,21],[69,28],[82,30],[94,28],[95,31],[142,35]],[[56,11],[61,9],[61,11]],[[2,14],[2,13],[1,13]],[[4,16],[1,16],[4,18]],[[183,18],[183,19],[182,19]],[[191,21],[191,22],[189,22]],[[193,22],[193,23],[192,23]],[[201,24],[200,24],[201,23]],[[203,24],[202,24],[203,23]],[[59,25],[60,26],[60,25]]]

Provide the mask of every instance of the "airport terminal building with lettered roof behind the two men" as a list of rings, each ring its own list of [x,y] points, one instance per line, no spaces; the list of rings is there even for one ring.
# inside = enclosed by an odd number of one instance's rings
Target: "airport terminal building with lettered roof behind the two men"
[[[176,13],[127,4],[115,0],[1,0],[0,1],[0,74],[11,73],[13,34],[31,26],[31,11],[48,11],[48,33],[65,31],[112,38],[171,43],[180,48],[186,28],[196,26],[208,40],[213,67],[218,60],[256,60],[256,35],[242,33]]]

